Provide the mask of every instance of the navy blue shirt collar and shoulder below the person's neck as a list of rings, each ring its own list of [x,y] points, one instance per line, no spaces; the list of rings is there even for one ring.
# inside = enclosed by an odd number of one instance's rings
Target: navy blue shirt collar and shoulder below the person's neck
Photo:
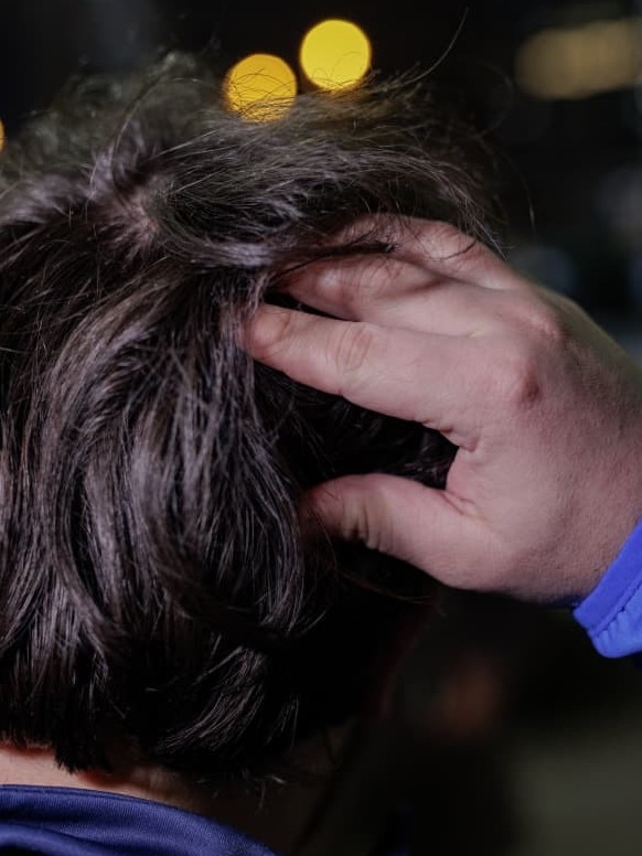
[[[0,853],[46,856],[275,856],[237,830],[133,796],[0,787]]]

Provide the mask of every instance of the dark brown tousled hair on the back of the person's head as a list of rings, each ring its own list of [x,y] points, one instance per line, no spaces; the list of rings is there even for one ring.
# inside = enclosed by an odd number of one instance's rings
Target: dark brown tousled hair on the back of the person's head
[[[261,771],[340,719],[415,577],[303,537],[302,491],[452,447],[239,346],[283,270],[385,252],[364,213],[491,240],[470,131],[418,86],[303,96],[256,124],[188,60],[85,82],[2,154],[0,736],[60,763],[109,741]]]

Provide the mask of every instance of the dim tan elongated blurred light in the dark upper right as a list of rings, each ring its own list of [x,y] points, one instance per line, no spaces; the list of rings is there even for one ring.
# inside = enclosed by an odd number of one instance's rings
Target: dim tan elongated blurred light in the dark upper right
[[[521,46],[515,76],[536,98],[586,98],[635,86],[642,71],[642,19],[542,30]]]

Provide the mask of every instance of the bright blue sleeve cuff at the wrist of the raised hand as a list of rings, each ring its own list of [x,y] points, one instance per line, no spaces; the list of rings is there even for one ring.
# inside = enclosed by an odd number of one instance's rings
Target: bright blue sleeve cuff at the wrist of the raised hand
[[[642,652],[642,522],[573,614],[603,656]]]

